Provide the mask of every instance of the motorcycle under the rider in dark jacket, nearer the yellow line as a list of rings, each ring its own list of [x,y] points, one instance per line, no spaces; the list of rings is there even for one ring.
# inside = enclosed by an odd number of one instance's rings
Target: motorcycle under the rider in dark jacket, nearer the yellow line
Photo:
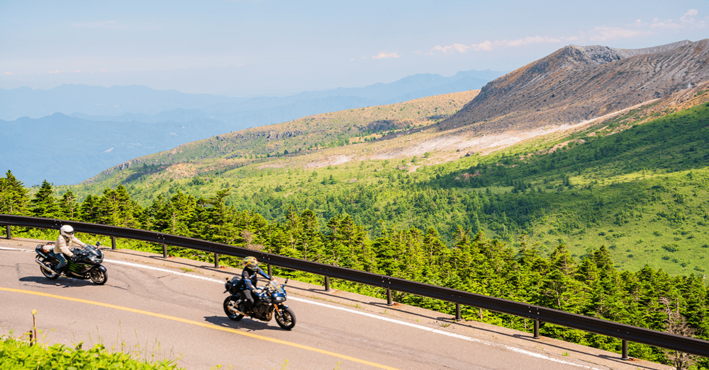
[[[241,277],[232,277],[225,282],[225,293],[229,292],[230,296],[224,300],[224,313],[231,320],[238,321],[244,316],[255,318],[269,322],[272,317],[276,317],[278,325],[285,329],[291,330],[296,325],[296,315],[293,310],[286,306],[286,289],[279,284],[276,279],[271,279],[265,287],[257,287],[257,293],[263,294],[263,299],[255,296],[254,304],[250,311],[244,307],[244,299],[240,296]],[[286,279],[286,283],[288,280]]]

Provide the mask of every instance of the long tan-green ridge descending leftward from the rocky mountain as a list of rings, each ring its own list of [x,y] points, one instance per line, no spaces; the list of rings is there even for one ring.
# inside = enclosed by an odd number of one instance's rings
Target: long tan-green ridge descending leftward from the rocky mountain
[[[415,132],[457,112],[478,92],[463,91],[391,105],[341,110],[221,134],[135,158],[105,170],[86,181],[86,185],[92,187],[97,184],[98,187],[93,188],[100,191],[105,186],[116,186],[118,183],[192,177],[202,172],[223,172],[239,166],[260,165],[267,158],[285,154],[311,154],[319,149],[374,141],[387,134]],[[175,163],[187,162],[190,163],[189,169],[168,170]]]

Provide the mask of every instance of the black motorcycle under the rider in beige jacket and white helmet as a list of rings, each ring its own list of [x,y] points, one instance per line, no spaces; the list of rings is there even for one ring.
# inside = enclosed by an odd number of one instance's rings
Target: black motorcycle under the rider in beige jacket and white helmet
[[[67,260],[67,265],[62,270],[57,270],[59,260],[54,253],[55,243],[37,245],[35,252],[37,256],[35,262],[40,265],[42,274],[47,279],[57,279],[60,274],[74,279],[91,279],[95,284],[103,285],[108,280],[106,267],[101,265],[104,262],[104,253],[99,250],[100,243],[94,245],[86,244],[84,248],[71,248],[74,258]]]

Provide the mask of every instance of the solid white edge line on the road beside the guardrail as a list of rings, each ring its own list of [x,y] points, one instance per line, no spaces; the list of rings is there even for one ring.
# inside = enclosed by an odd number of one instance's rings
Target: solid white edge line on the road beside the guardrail
[[[160,271],[160,272],[169,272],[169,273],[171,273],[171,274],[181,275],[181,276],[184,276],[184,277],[192,277],[192,278],[194,278],[194,279],[206,280],[206,281],[208,281],[208,282],[217,282],[217,283],[219,283],[219,284],[224,284],[224,283],[225,283],[225,280],[217,280],[217,279],[212,279],[212,278],[210,278],[210,277],[202,277],[202,276],[199,276],[199,275],[187,274],[187,273],[185,273],[185,272],[177,272],[177,271],[167,270],[167,269],[163,269],[163,268],[160,268],[160,267],[152,267],[152,266],[140,265],[140,264],[138,264],[138,263],[133,263],[133,262],[125,262],[125,261],[118,261],[118,260],[104,260],[104,262],[111,262],[111,263],[116,263],[116,264],[118,264],[118,265],[126,265],[126,266],[131,266],[131,267],[139,267],[139,268],[144,268],[144,269],[147,269],[147,270],[155,270],[155,271]],[[538,359],[546,359],[546,360],[549,360],[549,361],[552,361],[552,362],[559,362],[560,364],[578,366],[578,367],[582,367],[582,368],[584,368],[584,369],[602,370],[602,369],[598,369],[598,368],[596,368],[596,367],[591,367],[591,366],[586,366],[586,365],[582,365],[582,364],[576,364],[576,363],[574,363],[574,362],[564,361],[564,360],[562,360],[562,359],[555,359],[554,357],[548,357],[548,356],[546,356],[546,355],[544,355],[544,354],[540,354],[540,353],[532,352],[532,351],[527,351],[526,349],[521,349],[521,348],[513,347],[513,346],[510,346],[510,345],[501,345],[501,344],[498,344],[498,343],[486,342],[486,341],[484,341],[484,340],[479,340],[479,339],[476,339],[476,338],[473,338],[473,337],[468,337],[467,335],[461,335],[461,334],[455,334],[455,333],[448,333],[448,332],[445,332],[445,331],[443,331],[443,330],[438,330],[438,329],[434,329],[434,328],[428,328],[428,327],[426,327],[426,326],[418,325],[418,324],[414,324],[414,323],[407,323],[406,321],[396,320],[396,319],[393,319],[393,318],[385,318],[385,317],[382,317],[382,316],[374,315],[373,313],[367,313],[367,312],[362,312],[362,311],[356,311],[356,310],[353,310],[353,309],[351,309],[351,308],[344,308],[344,307],[333,306],[333,305],[330,305],[330,304],[327,304],[327,303],[320,303],[320,302],[311,301],[311,300],[308,300],[308,299],[296,298],[296,297],[294,297],[294,296],[289,296],[288,299],[291,300],[291,301],[298,301],[298,302],[303,302],[303,303],[310,303],[310,304],[314,304],[314,305],[316,305],[316,306],[322,306],[322,307],[332,308],[332,309],[334,309],[334,310],[340,310],[340,311],[345,311],[345,312],[348,312],[348,313],[354,313],[354,314],[356,314],[356,315],[367,316],[367,317],[369,317],[369,318],[375,318],[375,319],[377,319],[377,320],[384,320],[384,321],[388,321],[389,323],[396,323],[396,324],[398,324],[398,325],[405,325],[405,326],[409,326],[409,327],[411,327],[411,328],[416,328],[416,329],[420,329],[420,330],[425,330],[425,331],[428,331],[428,332],[431,332],[431,333],[436,333],[436,334],[440,334],[440,335],[446,335],[446,336],[448,336],[448,337],[454,337],[454,338],[458,338],[458,339],[460,339],[460,340],[467,340],[468,342],[476,342],[476,343],[481,343],[481,344],[483,344],[483,345],[490,345],[490,346],[493,346],[493,347],[502,347],[502,348],[505,348],[505,349],[509,349],[510,351],[513,351],[513,352],[517,352],[517,353],[520,353],[520,354],[526,354],[527,356],[531,356],[531,357],[537,357]]]

